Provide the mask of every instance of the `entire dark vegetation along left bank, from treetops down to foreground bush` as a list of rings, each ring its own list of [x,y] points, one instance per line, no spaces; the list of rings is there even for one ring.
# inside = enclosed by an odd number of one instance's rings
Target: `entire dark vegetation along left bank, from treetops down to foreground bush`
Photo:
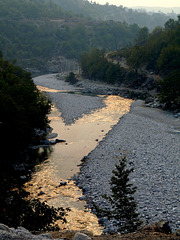
[[[11,227],[54,230],[58,229],[57,220],[65,221],[65,209],[28,200],[29,193],[22,188],[37,160],[37,153],[29,145],[38,144],[45,137],[50,107],[31,74],[0,54],[0,222]],[[38,130],[44,134],[37,134]]]

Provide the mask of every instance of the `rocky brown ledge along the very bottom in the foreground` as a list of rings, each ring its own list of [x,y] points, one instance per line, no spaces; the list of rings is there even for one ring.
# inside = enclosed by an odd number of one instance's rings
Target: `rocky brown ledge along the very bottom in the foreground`
[[[51,233],[32,234],[23,227],[9,228],[4,224],[0,224],[0,239],[1,240],[179,240],[180,232],[174,234],[167,234],[166,229],[168,225],[166,222],[155,223],[146,226],[136,233],[116,234],[116,235],[101,235],[93,236],[89,232],[74,232],[74,231],[60,231]]]

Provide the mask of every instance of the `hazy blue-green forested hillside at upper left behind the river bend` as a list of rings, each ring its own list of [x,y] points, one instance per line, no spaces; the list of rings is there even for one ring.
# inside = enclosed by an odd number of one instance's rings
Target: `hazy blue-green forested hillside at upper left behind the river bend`
[[[52,1],[0,0],[0,49],[23,68],[47,71],[58,56],[78,59],[91,47],[117,50],[132,43],[136,24],[88,20]]]

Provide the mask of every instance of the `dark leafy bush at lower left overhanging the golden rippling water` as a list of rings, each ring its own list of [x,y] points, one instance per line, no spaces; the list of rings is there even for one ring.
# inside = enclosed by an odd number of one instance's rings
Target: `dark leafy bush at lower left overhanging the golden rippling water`
[[[1,186],[0,222],[15,228],[22,226],[29,231],[59,230],[56,221],[66,222],[69,209],[50,207],[38,199],[28,200],[28,195],[22,189],[8,191]]]

